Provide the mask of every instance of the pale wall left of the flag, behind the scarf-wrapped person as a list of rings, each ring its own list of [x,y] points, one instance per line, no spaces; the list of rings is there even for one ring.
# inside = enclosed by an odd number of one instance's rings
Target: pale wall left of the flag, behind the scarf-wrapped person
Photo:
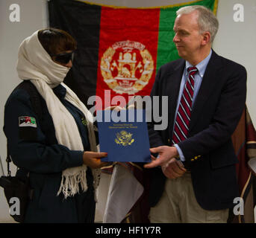
[[[20,22],[10,22],[11,4],[19,4]],[[0,156],[6,175],[6,138],[2,131],[4,123],[4,103],[13,88],[19,84],[16,60],[19,44],[35,30],[46,27],[45,0],[1,0],[0,1]],[[1,170],[0,170],[1,172]],[[14,167],[13,167],[14,174]],[[0,174],[1,176],[1,174]],[[7,202],[0,188],[0,222],[11,220]]]

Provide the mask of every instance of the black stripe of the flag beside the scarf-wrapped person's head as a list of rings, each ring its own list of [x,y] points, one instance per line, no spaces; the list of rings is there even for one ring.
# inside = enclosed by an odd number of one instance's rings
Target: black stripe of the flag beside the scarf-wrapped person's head
[[[50,27],[66,30],[78,42],[64,83],[85,105],[88,97],[96,95],[101,10],[101,6],[80,1],[49,1]]]

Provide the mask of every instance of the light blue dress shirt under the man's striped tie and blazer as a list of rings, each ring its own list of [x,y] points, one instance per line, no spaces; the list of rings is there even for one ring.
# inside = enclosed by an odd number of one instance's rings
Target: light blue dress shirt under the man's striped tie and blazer
[[[196,101],[196,96],[199,93],[199,89],[200,89],[200,86],[202,84],[202,79],[203,79],[204,74],[205,74],[205,69],[206,69],[207,64],[210,60],[211,54],[212,54],[212,50],[210,49],[210,54],[208,54],[208,56],[205,58],[205,60],[202,60],[201,62],[199,62],[198,65],[196,65],[196,68],[199,71],[195,74],[195,77],[194,77],[195,84],[194,84],[194,94],[193,94],[193,100],[192,100],[192,109],[193,109],[193,105]],[[183,89],[184,89],[185,83],[187,82],[187,77],[188,77],[187,68],[190,68],[190,67],[193,67],[193,65],[191,65],[190,62],[186,61],[183,76],[182,76],[182,79],[181,79],[181,87],[180,87],[180,91],[179,91],[179,94],[178,94],[178,101],[177,101],[177,106],[176,106],[176,111],[175,111],[175,120],[176,120],[176,116],[177,116],[177,112],[178,112],[178,106],[180,105]],[[174,129],[174,126],[175,126],[175,123],[173,125],[173,129]],[[183,154],[181,148],[178,146],[178,144],[174,144],[174,146],[178,150],[178,154],[180,155],[181,161],[185,161],[186,159],[184,158],[184,154]]]

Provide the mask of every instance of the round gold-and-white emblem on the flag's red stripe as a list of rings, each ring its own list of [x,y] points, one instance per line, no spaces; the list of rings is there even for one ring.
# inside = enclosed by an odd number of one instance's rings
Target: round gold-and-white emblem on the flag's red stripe
[[[149,83],[154,60],[140,42],[115,42],[102,56],[101,71],[110,89],[118,94],[135,94]]]

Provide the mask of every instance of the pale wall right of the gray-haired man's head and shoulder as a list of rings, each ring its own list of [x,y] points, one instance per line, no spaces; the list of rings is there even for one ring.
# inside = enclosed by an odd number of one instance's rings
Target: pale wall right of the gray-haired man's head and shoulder
[[[233,7],[244,6],[244,22],[234,22]],[[219,32],[213,48],[223,57],[239,62],[247,70],[246,104],[252,121],[256,126],[256,1],[255,0],[219,0],[217,17]]]

